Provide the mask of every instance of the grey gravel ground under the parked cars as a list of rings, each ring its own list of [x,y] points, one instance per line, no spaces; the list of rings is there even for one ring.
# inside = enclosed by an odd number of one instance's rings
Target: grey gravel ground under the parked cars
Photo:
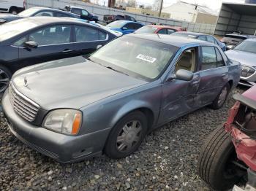
[[[203,108],[170,122],[125,159],[103,155],[67,165],[18,141],[1,114],[0,190],[210,190],[197,176],[197,157],[203,140],[225,122],[233,104],[228,98],[222,109]]]

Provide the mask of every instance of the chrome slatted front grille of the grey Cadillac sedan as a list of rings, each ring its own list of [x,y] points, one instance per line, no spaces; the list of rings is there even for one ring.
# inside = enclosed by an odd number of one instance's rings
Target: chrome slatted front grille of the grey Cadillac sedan
[[[29,122],[34,121],[39,110],[39,105],[19,93],[12,83],[10,83],[9,86],[9,95],[12,108],[15,110],[15,112]]]

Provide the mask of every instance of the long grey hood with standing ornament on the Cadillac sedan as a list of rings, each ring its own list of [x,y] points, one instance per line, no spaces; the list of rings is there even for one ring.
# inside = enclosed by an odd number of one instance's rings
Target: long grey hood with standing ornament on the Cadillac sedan
[[[42,109],[50,110],[79,109],[147,82],[75,57],[21,69],[12,83]]]

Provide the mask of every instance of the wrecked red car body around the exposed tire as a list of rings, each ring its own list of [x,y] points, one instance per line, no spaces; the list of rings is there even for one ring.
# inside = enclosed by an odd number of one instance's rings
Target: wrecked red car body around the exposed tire
[[[246,117],[245,114],[243,115],[245,107],[256,111],[256,86],[242,95],[234,95],[234,98],[236,99],[236,104],[230,109],[229,117],[225,123],[225,130],[232,136],[238,159],[248,165],[252,171],[256,171],[256,139],[252,139],[252,135],[241,130],[242,128],[239,128],[240,125],[237,122],[243,118],[242,116]],[[256,132],[256,116],[253,117],[254,120],[249,124],[249,128],[247,126],[246,132]]]

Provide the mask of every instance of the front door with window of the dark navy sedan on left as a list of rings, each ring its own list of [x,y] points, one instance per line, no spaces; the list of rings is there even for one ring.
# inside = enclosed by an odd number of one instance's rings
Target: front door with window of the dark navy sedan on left
[[[71,36],[71,25],[45,26],[37,31],[24,36],[20,41],[37,42],[38,47],[26,48],[23,44],[19,47],[20,65],[30,66],[34,63],[53,61],[60,58],[68,58],[73,54],[73,44]]]

